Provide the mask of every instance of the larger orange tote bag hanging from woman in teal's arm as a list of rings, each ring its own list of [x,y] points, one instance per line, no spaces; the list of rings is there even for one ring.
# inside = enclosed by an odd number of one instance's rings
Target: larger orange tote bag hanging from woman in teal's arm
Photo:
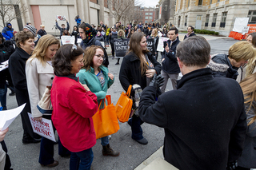
[[[93,116],[96,139],[102,138],[104,136],[109,136],[111,134],[114,134],[115,132],[118,132],[119,130],[118,117],[115,113],[114,105],[113,103],[111,103],[111,99],[108,96],[110,95],[106,96],[108,105],[106,105],[105,102],[105,108],[99,109],[100,105],[102,104],[101,101],[98,105],[98,112],[95,113]]]

